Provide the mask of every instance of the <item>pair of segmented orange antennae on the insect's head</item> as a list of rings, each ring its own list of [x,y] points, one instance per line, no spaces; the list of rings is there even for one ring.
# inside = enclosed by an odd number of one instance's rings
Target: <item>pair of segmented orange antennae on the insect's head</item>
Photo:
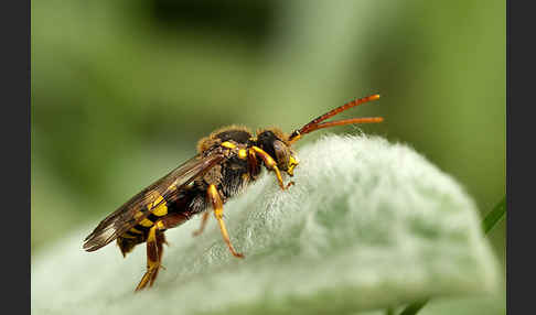
[[[322,128],[329,128],[329,127],[335,127],[335,126],[344,126],[344,124],[351,124],[351,123],[374,123],[374,122],[382,122],[384,119],[382,117],[364,117],[364,118],[351,118],[351,119],[341,119],[341,120],[335,120],[335,121],[329,121],[329,122],[322,122],[337,113],[341,113],[352,107],[362,105],[364,102],[371,101],[371,100],[376,100],[379,98],[379,94],[371,95],[367,97],[354,99],[352,101],[346,102],[343,106],[340,106],[333,110],[330,110],[329,112],[317,117],[313,119],[311,122],[308,124],[303,126],[299,130],[294,130],[292,134],[289,137],[289,142],[296,142],[298,141],[302,134],[307,134],[309,132],[313,132],[314,130],[319,130]]]

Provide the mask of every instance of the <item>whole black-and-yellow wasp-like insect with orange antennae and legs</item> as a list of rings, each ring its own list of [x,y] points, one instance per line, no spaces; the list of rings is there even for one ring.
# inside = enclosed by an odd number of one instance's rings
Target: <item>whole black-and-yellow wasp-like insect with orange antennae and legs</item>
[[[178,227],[194,215],[202,214],[203,232],[210,209],[219,226],[223,240],[234,257],[244,256],[233,247],[223,220],[223,205],[258,178],[261,166],[271,171],[281,189],[294,184],[283,183],[281,173],[293,176],[299,161],[291,145],[304,134],[334,126],[380,122],[383,118],[351,118],[322,122],[349,108],[376,100],[379,95],[355,99],[340,106],[287,134],[278,128],[258,130],[256,135],[245,127],[231,126],[212,132],[197,143],[197,154],[158,180],[116,211],[106,217],[85,238],[83,248],[95,251],[116,240],[124,257],[137,245],[147,243],[147,271],[136,291],[152,286],[161,268],[164,231]]]

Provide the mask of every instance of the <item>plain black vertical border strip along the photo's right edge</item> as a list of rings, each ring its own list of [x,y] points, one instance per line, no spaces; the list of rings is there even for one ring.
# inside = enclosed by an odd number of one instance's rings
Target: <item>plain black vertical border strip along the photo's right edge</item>
[[[534,10],[506,2],[506,309],[534,313]],[[526,7],[522,7],[525,4]],[[525,111],[525,112],[524,112]],[[525,140],[525,138],[527,140]],[[513,146],[517,153],[514,154]],[[524,145],[523,145],[524,144]],[[523,145],[523,146],[522,146]],[[516,178],[515,189],[512,178]],[[513,204],[516,207],[513,207]]]

